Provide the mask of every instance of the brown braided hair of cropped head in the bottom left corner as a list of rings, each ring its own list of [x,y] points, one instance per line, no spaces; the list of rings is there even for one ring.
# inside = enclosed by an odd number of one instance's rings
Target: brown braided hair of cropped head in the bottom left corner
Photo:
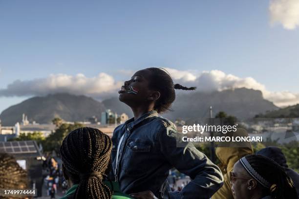
[[[13,156],[0,153],[0,189],[26,189],[27,186],[27,172]]]

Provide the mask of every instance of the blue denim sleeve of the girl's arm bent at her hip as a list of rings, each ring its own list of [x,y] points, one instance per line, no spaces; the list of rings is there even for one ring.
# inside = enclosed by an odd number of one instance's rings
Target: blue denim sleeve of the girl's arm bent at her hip
[[[191,142],[183,142],[174,125],[161,128],[157,137],[169,163],[192,179],[182,191],[169,192],[170,199],[211,198],[223,184],[220,169]]]

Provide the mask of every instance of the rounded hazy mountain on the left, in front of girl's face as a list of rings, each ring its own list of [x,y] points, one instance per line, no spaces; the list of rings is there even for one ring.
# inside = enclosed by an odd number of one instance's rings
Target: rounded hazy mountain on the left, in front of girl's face
[[[51,123],[55,117],[65,121],[84,121],[92,116],[101,118],[106,108],[103,103],[86,96],[71,94],[51,94],[33,97],[5,109],[0,114],[2,125],[20,122],[24,113],[30,122]]]

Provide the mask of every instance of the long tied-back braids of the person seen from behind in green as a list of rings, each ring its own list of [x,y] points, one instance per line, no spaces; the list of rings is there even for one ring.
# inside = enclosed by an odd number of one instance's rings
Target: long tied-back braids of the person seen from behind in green
[[[67,176],[73,183],[79,183],[75,199],[112,198],[113,190],[103,182],[111,149],[111,139],[95,128],[81,127],[65,137],[60,152]]]

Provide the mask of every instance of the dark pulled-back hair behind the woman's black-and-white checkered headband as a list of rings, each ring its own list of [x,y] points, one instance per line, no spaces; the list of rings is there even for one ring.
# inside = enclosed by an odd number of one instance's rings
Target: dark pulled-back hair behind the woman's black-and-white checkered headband
[[[266,188],[258,183],[263,197],[270,195],[273,199],[297,199],[294,182],[278,163],[260,155],[249,155],[246,159],[271,184],[270,188]]]

